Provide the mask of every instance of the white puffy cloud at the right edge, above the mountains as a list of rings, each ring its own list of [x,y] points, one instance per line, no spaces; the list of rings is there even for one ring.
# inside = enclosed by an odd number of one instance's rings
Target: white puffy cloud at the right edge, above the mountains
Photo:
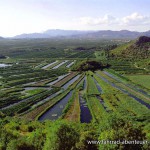
[[[150,17],[141,15],[136,12],[129,16],[123,17],[122,23],[129,26],[148,25],[150,24]]]

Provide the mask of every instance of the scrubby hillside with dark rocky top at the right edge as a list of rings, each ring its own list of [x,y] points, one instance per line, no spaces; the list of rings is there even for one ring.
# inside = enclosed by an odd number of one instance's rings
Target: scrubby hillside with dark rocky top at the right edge
[[[150,37],[141,36],[137,40],[111,51],[113,57],[146,59],[150,58]]]

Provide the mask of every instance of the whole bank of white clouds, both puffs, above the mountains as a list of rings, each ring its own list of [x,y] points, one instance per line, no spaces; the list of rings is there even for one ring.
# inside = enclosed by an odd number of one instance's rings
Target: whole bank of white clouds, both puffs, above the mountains
[[[135,27],[135,26],[148,26],[150,24],[150,16],[144,16],[137,12],[132,13],[122,18],[116,18],[111,15],[104,15],[103,17],[82,17],[79,19],[82,25],[88,26],[118,26],[118,27]]]

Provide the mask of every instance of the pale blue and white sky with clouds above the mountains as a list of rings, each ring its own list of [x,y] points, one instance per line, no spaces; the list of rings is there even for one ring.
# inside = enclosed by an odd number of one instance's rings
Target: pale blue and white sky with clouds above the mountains
[[[0,36],[64,30],[150,30],[150,0],[0,0]]]

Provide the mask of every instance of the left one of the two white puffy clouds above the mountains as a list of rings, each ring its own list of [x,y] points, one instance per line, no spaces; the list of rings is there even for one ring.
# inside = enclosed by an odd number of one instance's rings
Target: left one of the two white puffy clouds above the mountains
[[[83,25],[110,25],[116,23],[117,19],[111,15],[106,14],[104,17],[92,18],[82,17],[79,19]]]

